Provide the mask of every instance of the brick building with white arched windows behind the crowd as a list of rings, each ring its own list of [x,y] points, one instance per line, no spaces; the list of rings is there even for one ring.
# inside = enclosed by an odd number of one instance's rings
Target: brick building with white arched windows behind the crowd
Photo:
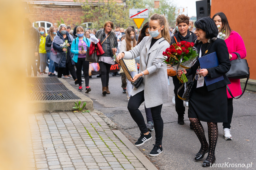
[[[25,0],[28,3],[30,13],[26,17],[33,23],[33,26],[43,26],[49,30],[50,26],[58,27],[63,21],[72,28],[75,25],[83,24],[84,27],[92,27],[84,17],[82,5],[85,0]],[[123,4],[122,0],[115,0]]]

